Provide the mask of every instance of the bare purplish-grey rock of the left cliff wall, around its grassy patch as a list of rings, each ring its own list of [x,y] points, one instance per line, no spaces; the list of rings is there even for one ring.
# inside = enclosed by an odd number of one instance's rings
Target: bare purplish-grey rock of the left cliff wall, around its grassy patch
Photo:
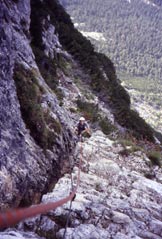
[[[61,175],[59,165],[68,160],[71,146],[71,122],[68,112],[59,102],[39,73],[30,45],[30,1],[0,2],[0,207],[15,207],[31,203],[47,189],[49,181]],[[52,33],[51,33],[52,31]],[[54,29],[46,32],[43,39],[50,41]],[[54,35],[51,44],[56,42]],[[48,42],[47,42],[48,45]],[[49,46],[50,47],[50,46]],[[48,51],[48,50],[47,50]],[[54,50],[53,50],[54,52]],[[37,80],[46,90],[42,105],[51,102],[51,114],[62,126],[61,135],[51,152],[46,155],[36,144],[22,119],[20,103],[13,79],[15,64],[24,69],[35,69]]]

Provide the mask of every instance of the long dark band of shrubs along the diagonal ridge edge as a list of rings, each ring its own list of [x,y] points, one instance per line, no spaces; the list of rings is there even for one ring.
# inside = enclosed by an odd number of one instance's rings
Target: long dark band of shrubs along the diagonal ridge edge
[[[39,28],[39,32],[41,32],[40,23],[42,22],[42,17],[47,19],[50,16],[51,24],[55,26],[60,43],[80,64],[84,71],[89,74],[91,80],[86,83],[91,86],[93,93],[100,100],[111,107],[116,121],[133,131],[136,137],[147,138],[153,141],[152,129],[136,112],[130,110],[129,94],[120,85],[112,61],[104,54],[94,51],[91,42],[74,28],[69,15],[58,1],[48,0],[41,2],[39,0],[32,0],[31,5],[32,44],[35,45],[39,40],[39,48],[44,50],[44,46],[41,43],[41,39],[36,35],[35,29]],[[93,112],[88,117],[95,120],[92,115]]]

